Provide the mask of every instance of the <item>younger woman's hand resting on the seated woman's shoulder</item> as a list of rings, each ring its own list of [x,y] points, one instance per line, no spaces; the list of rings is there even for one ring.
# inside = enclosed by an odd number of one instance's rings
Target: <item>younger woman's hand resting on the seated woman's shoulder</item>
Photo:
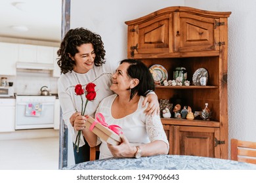
[[[151,116],[154,116],[157,114],[159,116],[160,115],[160,105],[158,103],[158,95],[153,94],[153,93],[148,94],[142,103],[142,107],[144,107],[147,102],[148,102],[148,107],[144,110],[144,112],[147,115],[151,114]]]

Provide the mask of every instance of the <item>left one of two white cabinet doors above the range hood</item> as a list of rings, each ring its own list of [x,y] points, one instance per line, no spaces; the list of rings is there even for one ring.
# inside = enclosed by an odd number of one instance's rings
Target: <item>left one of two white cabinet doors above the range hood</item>
[[[19,44],[18,61],[37,62],[37,47],[30,44]]]

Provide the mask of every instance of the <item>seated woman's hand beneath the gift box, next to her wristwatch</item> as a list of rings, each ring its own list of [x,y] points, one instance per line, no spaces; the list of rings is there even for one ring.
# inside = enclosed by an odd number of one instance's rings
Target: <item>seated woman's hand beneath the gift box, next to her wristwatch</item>
[[[131,146],[128,139],[124,135],[120,135],[120,137],[122,142],[118,146],[108,144],[110,152],[114,158],[133,158],[137,148],[135,146]]]

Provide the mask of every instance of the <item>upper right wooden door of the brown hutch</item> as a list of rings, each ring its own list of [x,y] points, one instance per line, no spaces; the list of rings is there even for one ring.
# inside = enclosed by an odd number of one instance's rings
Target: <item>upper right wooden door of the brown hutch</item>
[[[175,52],[219,50],[219,19],[187,12],[174,16]]]

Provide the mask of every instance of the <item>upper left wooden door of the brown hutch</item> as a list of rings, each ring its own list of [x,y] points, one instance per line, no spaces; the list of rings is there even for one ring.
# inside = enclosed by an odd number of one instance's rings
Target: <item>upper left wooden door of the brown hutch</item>
[[[129,26],[129,56],[160,54],[172,50],[172,14],[164,14],[142,24]]]

